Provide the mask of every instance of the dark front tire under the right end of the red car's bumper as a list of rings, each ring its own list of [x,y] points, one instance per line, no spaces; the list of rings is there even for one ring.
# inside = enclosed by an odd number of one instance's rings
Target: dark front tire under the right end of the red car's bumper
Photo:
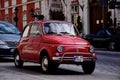
[[[95,69],[95,62],[89,63],[89,64],[83,64],[82,69],[85,74],[92,74]]]

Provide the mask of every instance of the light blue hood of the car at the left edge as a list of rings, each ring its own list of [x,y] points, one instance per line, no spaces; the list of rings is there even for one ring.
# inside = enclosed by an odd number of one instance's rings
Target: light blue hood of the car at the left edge
[[[0,34],[0,40],[2,41],[19,41],[20,40],[19,34]]]

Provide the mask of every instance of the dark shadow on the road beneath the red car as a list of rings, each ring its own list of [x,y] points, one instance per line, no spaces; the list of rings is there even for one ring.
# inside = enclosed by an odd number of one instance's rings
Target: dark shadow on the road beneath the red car
[[[22,68],[15,68],[15,66],[5,66],[7,69],[10,69],[12,71],[18,72],[18,73],[24,73],[24,74],[30,74],[30,75],[85,75],[82,71],[74,71],[72,69],[64,69],[58,67],[54,71],[51,71],[49,73],[43,73],[40,69],[40,65],[25,65]]]

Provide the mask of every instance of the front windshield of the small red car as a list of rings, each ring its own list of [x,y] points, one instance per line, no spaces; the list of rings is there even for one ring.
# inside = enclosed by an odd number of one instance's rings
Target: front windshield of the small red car
[[[44,24],[45,34],[62,34],[76,36],[74,26],[70,23],[49,22]]]

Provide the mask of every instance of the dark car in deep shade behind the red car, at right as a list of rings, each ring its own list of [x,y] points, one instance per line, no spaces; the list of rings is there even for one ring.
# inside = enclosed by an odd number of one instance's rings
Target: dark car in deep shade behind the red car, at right
[[[86,35],[84,38],[96,48],[120,49],[120,35],[113,35],[105,28],[101,28],[95,34]]]

